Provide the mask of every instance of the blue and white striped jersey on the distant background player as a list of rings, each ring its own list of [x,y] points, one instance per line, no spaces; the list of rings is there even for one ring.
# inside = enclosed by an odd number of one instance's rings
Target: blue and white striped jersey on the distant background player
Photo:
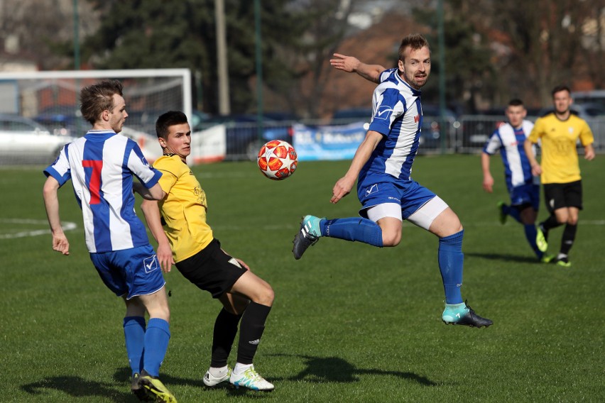
[[[529,136],[532,128],[533,123],[530,121],[523,121],[520,128],[513,128],[510,123],[504,123],[491,134],[483,148],[484,153],[489,155],[494,155],[500,150],[506,187],[509,190],[537,181],[531,174],[531,166],[523,148],[525,138]]]

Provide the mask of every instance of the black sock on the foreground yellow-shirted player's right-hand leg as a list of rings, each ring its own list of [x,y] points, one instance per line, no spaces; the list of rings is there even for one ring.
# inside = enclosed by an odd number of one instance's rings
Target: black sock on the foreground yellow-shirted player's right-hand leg
[[[237,362],[251,364],[256,354],[258,343],[265,330],[265,321],[271,311],[271,307],[250,302],[239,326],[239,345],[237,348]]]

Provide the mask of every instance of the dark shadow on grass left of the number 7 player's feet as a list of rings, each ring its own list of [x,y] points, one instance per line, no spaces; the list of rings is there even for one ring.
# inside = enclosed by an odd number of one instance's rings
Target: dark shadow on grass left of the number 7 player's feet
[[[128,389],[126,389],[126,385],[124,386],[125,392],[119,392],[114,383],[97,382],[75,376],[59,376],[47,377],[38,382],[22,385],[21,390],[32,395],[43,395],[47,393],[45,390],[54,389],[64,392],[70,397],[81,397],[82,399],[102,397],[113,402],[138,402],[138,399],[130,392],[130,383]]]

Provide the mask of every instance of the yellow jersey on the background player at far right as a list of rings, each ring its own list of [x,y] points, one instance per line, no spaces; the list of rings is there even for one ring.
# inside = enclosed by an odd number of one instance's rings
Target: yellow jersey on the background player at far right
[[[535,121],[528,140],[532,143],[541,140],[540,180],[543,184],[569,183],[582,179],[576,150],[578,139],[584,146],[594,142],[588,123],[574,114],[570,114],[565,121],[557,118],[554,113]]]

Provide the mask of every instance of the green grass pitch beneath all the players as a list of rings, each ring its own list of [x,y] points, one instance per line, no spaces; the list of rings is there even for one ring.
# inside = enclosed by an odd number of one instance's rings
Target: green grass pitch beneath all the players
[[[215,236],[275,289],[255,364],[276,390],[203,387],[219,304],[173,269],[165,276],[172,338],[161,375],[179,402],[604,401],[602,155],[581,161],[584,211],[571,268],[536,263],[523,228],[498,222],[496,202],[508,201],[498,158],[494,194],[481,189],[477,155],[417,158],[414,179],[464,225],[462,295],[494,320],[488,329],[442,324],[437,239],[409,223],[396,248],[325,238],[294,260],[302,215],[356,216],[354,194],[329,203],[348,165],[301,162],[281,182],[251,162],[193,169]],[[67,231],[71,255],[51,249],[41,169],[0,170],[1,399],[136,402],[124,304],[90,263],[70,184],[60,201],[62,221],[77,224]],[[561,233],[552,231],[550,253]]]

